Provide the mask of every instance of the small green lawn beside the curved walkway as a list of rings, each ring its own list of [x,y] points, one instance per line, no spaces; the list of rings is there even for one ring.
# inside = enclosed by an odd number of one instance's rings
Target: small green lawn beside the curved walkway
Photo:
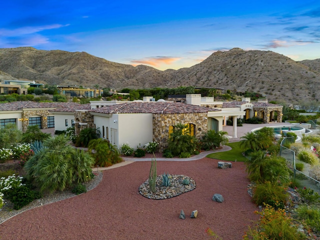
[[[245,161],[246,158],[241,154],[243,150],[239,147],[238,141],[227,143],[226,145],[232,147],[232,149],[229,151],[211,153],[208,154],[207,157],[226,161]]]

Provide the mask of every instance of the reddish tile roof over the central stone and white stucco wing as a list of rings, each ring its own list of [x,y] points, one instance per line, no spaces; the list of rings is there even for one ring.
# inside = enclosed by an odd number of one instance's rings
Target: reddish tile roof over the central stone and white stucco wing
[[[91,112],[111,113],[199,113],[220,111],[216,108],[196,106],[182,102],[126,102],[110,106],[103,106],[89,110]]]

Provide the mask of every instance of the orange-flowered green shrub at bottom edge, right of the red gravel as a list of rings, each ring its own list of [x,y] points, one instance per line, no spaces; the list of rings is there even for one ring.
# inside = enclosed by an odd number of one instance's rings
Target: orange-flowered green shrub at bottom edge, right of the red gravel
[[[249,240],[302,240],[305,235],[297,230],[292,224],[291,218],[284,209],[274,209],[272,206],[266,205],[261,211],[255,212],[259,214],[259,220],[255,228],[248,228],[248,231],[242,236],[242,239]]]

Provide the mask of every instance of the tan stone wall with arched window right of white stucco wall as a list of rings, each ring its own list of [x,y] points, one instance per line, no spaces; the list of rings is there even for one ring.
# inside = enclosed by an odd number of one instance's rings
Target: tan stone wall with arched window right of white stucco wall
[[[195,137],[201,139],[207,132],[207,113],[172,113],[153,114],[153,141],[159,142],[159,150],[162,151],[168,146],[169,126],[177,123],[194,124]],[[200,130],[198,130],[201,128]]]

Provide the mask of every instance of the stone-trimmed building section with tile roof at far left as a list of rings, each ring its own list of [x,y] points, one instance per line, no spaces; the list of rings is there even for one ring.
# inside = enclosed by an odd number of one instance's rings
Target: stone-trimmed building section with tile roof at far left
[[[8,123],[14,123],[23,132],[29,125],[38,125],[40,129],[51,128],[55,127],[55,117],[50,112],[51,110],[56,108],[74,109],[75,107],[81,107],[81,104],[36,101],[0,103],[0,125],[3,127]]]

